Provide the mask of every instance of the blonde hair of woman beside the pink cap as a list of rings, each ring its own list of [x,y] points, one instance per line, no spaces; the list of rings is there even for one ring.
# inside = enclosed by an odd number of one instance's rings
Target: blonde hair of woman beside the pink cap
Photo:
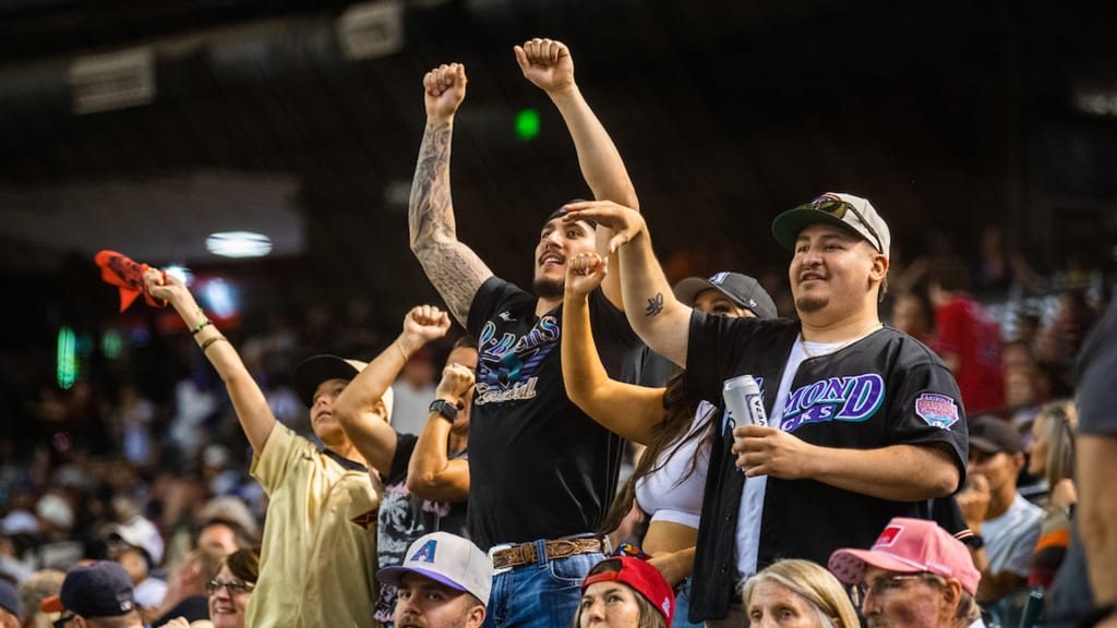
[[[761,582],[772,582],[806,600],[823,625],[859,628],[860,620],[841,582],[822,565],[808,560],[787,559],[772,563],[745,582],[741,592],[747,612],[753,591]]]

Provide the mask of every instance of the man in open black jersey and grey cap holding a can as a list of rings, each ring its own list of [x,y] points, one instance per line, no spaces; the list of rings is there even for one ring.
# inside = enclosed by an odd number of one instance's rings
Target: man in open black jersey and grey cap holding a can
[[[758,569],[867,546],[892,517],[927,518],[957,489],[967,450],[958,387],[929,349],[880,322],[890,235],[868,200],[827,193],[773,221],[792,251],[798,320],[695,311],[671,293],[639,212],[600,201],[565,209],[566,220],[612,229],[629,322],[686,368],[689,396],[720,403],[723,383],[742,374],[761,387],[767,426],[722,415],[715,430],[691,621],[741,626],[737,590]]]

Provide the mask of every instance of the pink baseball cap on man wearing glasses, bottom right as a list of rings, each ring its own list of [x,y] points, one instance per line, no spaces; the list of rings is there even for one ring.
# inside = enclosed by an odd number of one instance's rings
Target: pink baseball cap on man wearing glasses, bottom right
[[[865,565],[899,573],[926,571],[956,578],[971,594],[977,592],[981,572],[970,550],[933,521],[895,517],[869,550],[843,548],[830,554],[830,571],[847,584],[865,577]]]

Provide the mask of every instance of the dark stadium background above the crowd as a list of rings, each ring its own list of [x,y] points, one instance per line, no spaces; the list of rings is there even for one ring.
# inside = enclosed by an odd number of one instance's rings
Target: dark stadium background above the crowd
[[[50,349],[58,325],[95,336],[120,321],[92,263],[103,248],[227,277],[257,313],[361,295],[394,330],[437,301],[407,248],[405,201],[420,82],[447,61],[470,79],[459,237],[527,282],[542,219],[588,193],[561,118],[515,64],[512,46],[535,36],[571,46],[671,279],[779,277],[772,217],[827,190],[872,200],[897,267],[975,256],[1000,225],[1047,276],[1113,269],[1111,3],[412,1],[401,46],[371,59],[343,51],[351,4],[0,1],[6,377],[26,377],[21,356]],[[151,103],[75,113],[75,60],[143,46]],[[527,142],[525,107],[542,115]],[[267,234],[275,255],[206,253],[204,235],[230,228]]]

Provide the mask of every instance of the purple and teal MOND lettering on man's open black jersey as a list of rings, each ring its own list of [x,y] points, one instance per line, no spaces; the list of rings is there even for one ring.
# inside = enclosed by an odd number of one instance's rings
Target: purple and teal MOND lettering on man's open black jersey
[[[860,422],[885,400],[885,380],[877,373],[828,378],[793,390],[784,403],[780,428],[792,432],[806,424]]]

